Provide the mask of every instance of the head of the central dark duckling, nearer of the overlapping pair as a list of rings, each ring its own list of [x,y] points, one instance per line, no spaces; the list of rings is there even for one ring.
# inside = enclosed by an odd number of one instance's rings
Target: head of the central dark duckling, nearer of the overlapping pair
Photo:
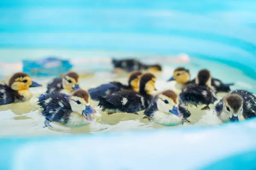
[[[149,94],[155,91],[156,77],[151,73],[145,73],[140,77],[140,94]]]

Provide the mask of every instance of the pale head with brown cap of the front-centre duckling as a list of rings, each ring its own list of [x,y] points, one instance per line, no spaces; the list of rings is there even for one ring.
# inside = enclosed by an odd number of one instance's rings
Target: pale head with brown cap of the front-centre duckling
[[[165,113],[172,113],[180,118],[183,114],[180,113],[178,107],[177,94],[172,90],[163,91],[157,99],[157,109]]]

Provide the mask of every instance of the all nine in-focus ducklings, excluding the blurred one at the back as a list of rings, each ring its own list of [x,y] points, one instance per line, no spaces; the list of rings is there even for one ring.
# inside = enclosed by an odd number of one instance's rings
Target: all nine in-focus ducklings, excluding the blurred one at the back
[[[168,81],[176,81],[176,89],[160,92],[155,88],[154,74],[134,71],[130,74],[128,85],[109,82],[87,92],[79,87],[79,75],[70,72],[47,85],[46,93],[38,96],[38,105],[42,108],[41,115],[45,117],[44,124],[48,127],[51,127],[50,122],[70,126],[93,122],[93,115],[97,112],[90,105],[91,99],[98,101],[101,110],[108,114],[138,114],[144,110],[143,119],[173,126],[189,123],[189,106],[203,105],[202,110],[210,109],[209,105],[217,101],[216,94],[229,93],[230,85],[233,85],[212,78],[206,69],[190,80],[189,70],[176,68]],[[14,74],[8,85],[0,85],[0,105],[27,101],[32,97],[29,88],[38,86],[41,85],[32,82],[27,74]],[[215,113],[223,122],[254,117],[256,97],[245,90],[232,91],[215,105]]]

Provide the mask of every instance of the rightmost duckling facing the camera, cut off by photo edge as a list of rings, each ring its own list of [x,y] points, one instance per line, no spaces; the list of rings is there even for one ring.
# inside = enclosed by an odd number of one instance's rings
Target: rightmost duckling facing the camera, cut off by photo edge
[[[215,106],[223,122],[239,122],[256,116],[256,97],[245,90],[232,91]]]

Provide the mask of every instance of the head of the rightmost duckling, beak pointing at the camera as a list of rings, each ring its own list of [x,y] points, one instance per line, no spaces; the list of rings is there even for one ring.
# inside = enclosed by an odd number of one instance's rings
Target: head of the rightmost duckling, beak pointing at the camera
[[[239,117],[241,118],[243,115],[242,97],[236,94],[224,97],[223,113],[229,116],[230,122],[239,122]]]

